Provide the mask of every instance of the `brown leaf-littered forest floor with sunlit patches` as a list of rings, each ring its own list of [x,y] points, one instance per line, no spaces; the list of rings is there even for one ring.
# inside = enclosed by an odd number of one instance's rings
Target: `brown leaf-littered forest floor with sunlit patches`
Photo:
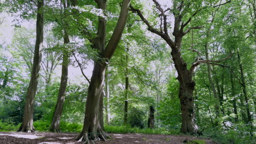
[[[0,143],[6,144],[60,144],[60,143],[82,143],[75,141],[78,134],[72,133],[18,133],[18,132],[1,132]],[[202,139],[195,136],[188,135],[148,135],[148,134],[109,134],[113,139],[106,142],[97,141],[95,143],[115,144],[115,143],[183,143],[184,140],[204,140],[206,143],[215,144],[209,139]]]

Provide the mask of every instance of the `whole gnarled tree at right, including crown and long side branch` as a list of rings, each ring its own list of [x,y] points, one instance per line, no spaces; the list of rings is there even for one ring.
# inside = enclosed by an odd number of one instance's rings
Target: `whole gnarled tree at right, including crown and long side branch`
[[[133,13],[137,13],[141,20],[148,26],[148,30],[152,33],[159,35],[162,39],[164,39],[168,46],[171,47],[171,56],[174,62],[174,67],[178,73],[178,81],[179,81],[179,99],[181,103],[181,111],[182,111],[182,128],[181,131],[183,133],[197,133],[198,127],[195,121],[195,107],[194,107],[194,97],[193,92],[195,88],[195,81],[193,80],[194,70],[197,65],[200,63],[208,63],[208,64],[217,64],[218,62],[223,61],[223,58],[220,61],[210,61],[208,59],[203,60],[200,57],[196,59],[195,62],[188,68],[187,63],[184,61],[182,56],[182,39],[183,37],[191,31],[191,29],[200,29],[202,26],[191,26],[191,20],[194,16],[197,15],[203,8],[201,5],[203,3],[200,2],[190,2],[190,1],[172,1],[172,9],[162,7],[158,1],[153,0],[156,9],[158,10],[158,16],[160,17],[160,25],[159,28],[152,25],[146,17],[144,17],[141,10],[133,8],[130,5]],[[221,4],[223,5],[223,4]],[[219,7],[219,5],[215,5],[214,7]],[[194,10],[191,10],[191,7],[195,7]],[[207,6],[206,6],[207,7]],[[171,15],[174,17],[174,25],[172,35],[174,39],[171,37],[168,32],[170,29],[170,23],[168,23],[168,17]],[[197,52],[197,50],[192,50]],[[217,64],[220,65],[220,64]],[[221,65],[224,66],[224,65]]]

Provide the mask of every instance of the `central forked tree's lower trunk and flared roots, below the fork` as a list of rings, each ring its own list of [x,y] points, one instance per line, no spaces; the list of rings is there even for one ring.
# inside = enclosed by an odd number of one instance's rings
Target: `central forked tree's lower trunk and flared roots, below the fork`
[[[82,141],[93,142],[95,140],[106,140],[107,135],[100,125],[100,101],[104,82],[106,63],[94,64],[92,71],[91,83],[88,88],[88,96],[85,107],[85,121],[82,133],[77,137],[77,140],[82,138]]]

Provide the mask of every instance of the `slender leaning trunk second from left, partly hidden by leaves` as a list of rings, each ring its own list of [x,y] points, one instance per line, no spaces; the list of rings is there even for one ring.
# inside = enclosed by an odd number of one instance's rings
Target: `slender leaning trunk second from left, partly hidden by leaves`
[[[64,14],[66,15],[66,8],[69,7],[69,4],[63,2],[64,7]],[[68,44],[69,38],[68,38],[68,32],[66,29],[67,23],[64,22],[65,26],[63,26],[64,31],[64,44]],[[67,51],[63,51],[62,56],[62,70],[61,70],[61,83],[60,83],[60,89],[59,94],[57,97],[57,102],[54,109],[54,115],[53,120],[51,121],[50,131],[52,132],[60,132],[60,120],[63,110],[63,105],[65,101],[65,95],[66,95],[66,88],[67,88],[67,80],[68,80],[68,65],[69,65],[69,56]]]

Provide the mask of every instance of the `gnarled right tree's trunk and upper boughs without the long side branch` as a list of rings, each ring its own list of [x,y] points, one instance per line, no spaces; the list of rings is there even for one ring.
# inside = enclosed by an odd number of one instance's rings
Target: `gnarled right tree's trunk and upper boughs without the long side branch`
[[[184,30],[184,28],[191,21],[191,18],[196,15],[196,13],[189,18],[187,22],[182,22],[183,15],[181,11],[184,10],[183,3],[176,3],[173,6],[175,10],[172,13],[174,15],[174,27],[172,35],[174,36],[174,41],[168,33],[167,26],[167,16],[165,10],[161,8],[161,5],[153,0],[156,8],[160,11],[161,16],[161,25],[160,31],[155,29],[154,26],[143,16],[142,12],[139,9],[135,9],[130,5],[133,13],[137,13],[141,17],[142,21],[148,26],[148,30],[152,33],[158,34],[166,43],[171,47],[172,52],[171,56],[174,62],[174,66],[178,73],[179,81],[179,98],[181,101],[181,110],[182,110],[182,133],[197,133],[198,127],[195,122],[195,109],[194,109],[194,98],[193,91],[195,88],[195,82],[192,79],[194,68],[199,65],[199,62],[193,63],[190,69],[187,68],[187,63],[184,62],[184,59],[181,55],[181,44],[182,38],[187,34],[191,29],[198,29],[199,27],[191,27]]]

